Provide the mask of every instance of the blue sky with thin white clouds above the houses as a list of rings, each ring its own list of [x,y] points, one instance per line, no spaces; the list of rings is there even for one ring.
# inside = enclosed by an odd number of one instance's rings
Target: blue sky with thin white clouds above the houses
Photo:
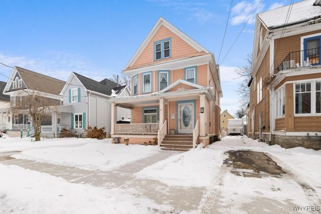
[[[239,109],[235,90],[240,81],[234,69],[252,53],[255,14],[290,3],[234,0],[231,7],[231,0],[2,0],[0,62],[63,81],[72,71],[100,81],[121,74],[163,17],[214,53],[220,64],[221,109],[233,115]],[[7,82],[11,71],[0,65],[0,81]]]

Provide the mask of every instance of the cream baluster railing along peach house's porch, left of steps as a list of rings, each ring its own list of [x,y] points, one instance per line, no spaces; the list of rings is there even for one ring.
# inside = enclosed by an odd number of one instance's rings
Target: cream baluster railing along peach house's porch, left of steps
[[[115,134],[157,134],[159,123],[114,124]]]

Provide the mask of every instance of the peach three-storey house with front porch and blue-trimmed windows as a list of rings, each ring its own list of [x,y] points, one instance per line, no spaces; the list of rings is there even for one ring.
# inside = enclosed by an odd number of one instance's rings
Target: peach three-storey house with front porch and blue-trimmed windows
[[[214,54],[165,19],[157,21],[122,73],[131,79],[131,96],[108,99],[117,141],[157,138],[162,148],[189,149],[219,138],[222,90]],[[129,124],[117,124],[116,106],[131,109]],[[183,139],[173,143],[169,135]],[[193,141],[182,142],[188,138]]]

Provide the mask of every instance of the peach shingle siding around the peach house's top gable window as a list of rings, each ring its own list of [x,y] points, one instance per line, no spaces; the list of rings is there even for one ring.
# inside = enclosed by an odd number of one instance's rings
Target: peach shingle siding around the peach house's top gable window
[[[172,57],[163,59],[163,60],[157,60],[154,61],[153,53],[154,53],[154,47],[153,43],[156,41],[160,41],[163,39],[172,38]],[[144,51],[140,54],[140,56],[137,58],[135,63],[131,68],[139,67],[139,66],[145,66],[145,65],[152,65],[159,62],[174,60],[182,57],[187,56],[198,56],[204,54],[203,52],[199,53],[194,48],[192,48],[189,44],[187,44],[184,40],[182,40],[180,37],[175,35],[173,32],[171,32],[168,28],[165,26],[161,26],[154,37],[151,39],[151,41],[148,43],[148,45],[145,47]],[[130,68],[130,69],[131,69]],[[127,69],[128,70],[128,69]]]

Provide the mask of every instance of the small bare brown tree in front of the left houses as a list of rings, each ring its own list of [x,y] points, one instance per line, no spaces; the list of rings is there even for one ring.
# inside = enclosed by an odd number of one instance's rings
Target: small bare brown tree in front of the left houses
[[[41,123],[51,115],[50,107],[57,105],[60,105],[60,100],[53,99],[48,94],[23,90],[16,96],[13,109],[15,112],[24,111],[33,119],[35,138],[36,141],[40,141]]]

